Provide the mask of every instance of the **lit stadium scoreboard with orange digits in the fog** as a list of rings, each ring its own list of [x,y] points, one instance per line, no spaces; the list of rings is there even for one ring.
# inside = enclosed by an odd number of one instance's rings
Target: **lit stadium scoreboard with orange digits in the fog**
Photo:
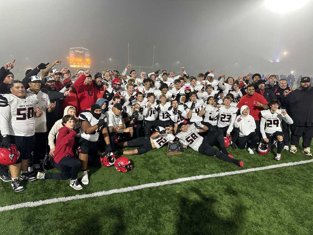
[[[90,68],[90,51],[84,47],[69,49],[69,67]]]

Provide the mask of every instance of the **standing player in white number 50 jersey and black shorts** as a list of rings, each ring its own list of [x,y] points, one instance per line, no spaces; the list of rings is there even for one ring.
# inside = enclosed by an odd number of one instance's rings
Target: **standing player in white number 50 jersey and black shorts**
[[[10,165],[11,185],[14,191],[25,190],[18,180],[34,181],[36,177],[28,173],[28,164],[35,146],[35,118],[42,115],[35,94],[27,94],[21,81],[14,80],[10,84],[11,94],[0,95],[0,129],[2,146],[9,148],[15,144],[20,152],[17,162]]]

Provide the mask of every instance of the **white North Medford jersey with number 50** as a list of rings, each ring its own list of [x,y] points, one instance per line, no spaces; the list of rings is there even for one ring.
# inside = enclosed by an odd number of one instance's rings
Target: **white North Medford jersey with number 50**
[[[34,112],[38,105],[35,94],[26,94],[24,99],[12,94],[0,95],[1,134],[33,136],[36,127]]]

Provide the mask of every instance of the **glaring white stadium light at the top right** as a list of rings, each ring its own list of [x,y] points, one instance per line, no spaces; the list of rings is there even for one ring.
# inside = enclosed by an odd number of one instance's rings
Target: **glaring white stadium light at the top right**
[[[266,0],[265,6],[271,11],[284,14],[303,7],[309,0]]]

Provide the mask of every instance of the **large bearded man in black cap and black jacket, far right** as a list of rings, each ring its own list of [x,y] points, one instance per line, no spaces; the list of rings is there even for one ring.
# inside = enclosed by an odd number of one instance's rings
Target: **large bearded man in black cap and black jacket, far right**
[[[284,91],[283,104],[289,107],[293,124],[290,125],[290,153],[297,152],[300,137],[302,136],[302,153],[312,156],[310,145],[313,137],[313,88],[310,77],[302,77],[300,87],[292,92]]]

